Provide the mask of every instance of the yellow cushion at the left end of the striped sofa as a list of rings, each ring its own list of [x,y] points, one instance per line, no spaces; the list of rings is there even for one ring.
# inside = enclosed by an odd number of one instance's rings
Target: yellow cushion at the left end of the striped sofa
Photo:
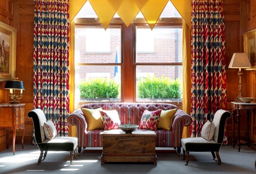
[[[101,121],[101,115],[100,111],[101,108],[98,109],[87,109],[87,108],[81,108],[85,118],[87,119],[88,123],[88,130],[94,130],[94,129],[103,129],[103,124]]]

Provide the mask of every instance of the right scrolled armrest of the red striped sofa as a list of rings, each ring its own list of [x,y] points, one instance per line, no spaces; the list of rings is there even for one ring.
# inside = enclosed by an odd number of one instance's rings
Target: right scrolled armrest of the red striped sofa
[[[177,110],[175,117],[173,119],[171,130],[173,132],[173,138],[175,139],[174,146],[181,147],[181,138],[183,133],[183,128],[190,126],[192,123],[192,117],[183,110]]]

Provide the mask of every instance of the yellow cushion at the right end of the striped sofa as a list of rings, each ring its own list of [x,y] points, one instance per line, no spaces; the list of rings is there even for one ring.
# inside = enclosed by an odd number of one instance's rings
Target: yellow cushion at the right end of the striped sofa
[[[157,128],[170,130],[176,111],[177,111],[177,108],[172,110],[166,110],[166,111],[162,110]]]

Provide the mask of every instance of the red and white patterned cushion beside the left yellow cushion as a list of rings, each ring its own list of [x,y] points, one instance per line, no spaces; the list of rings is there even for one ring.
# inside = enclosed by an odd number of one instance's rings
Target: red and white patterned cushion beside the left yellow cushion
[[[100,114],[104,130],[118,129],[118,125],[120,125],[120,119],[116,110],[102,110],[100,111]]]

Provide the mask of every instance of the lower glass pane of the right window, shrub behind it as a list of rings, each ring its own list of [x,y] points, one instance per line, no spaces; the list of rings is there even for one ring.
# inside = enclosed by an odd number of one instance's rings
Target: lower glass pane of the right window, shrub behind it
[[[136,100],[182,101],[182,66],[136,66]]]

